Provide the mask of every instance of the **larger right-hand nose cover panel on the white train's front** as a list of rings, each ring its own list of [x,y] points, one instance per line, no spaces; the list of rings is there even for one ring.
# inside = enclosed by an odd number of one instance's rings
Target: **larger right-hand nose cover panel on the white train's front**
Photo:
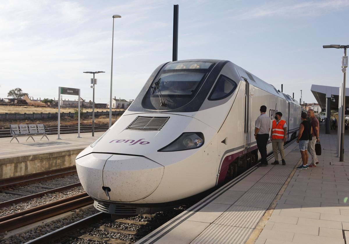
[[[148,158],[112,155],[103,169],[103,185],[109,187],[110,200],[132,202],[148,197],[161,182],[164,166]],[[100,191],[103,191],[102,188]],[[104,200],[108,200],[104,194]]]

